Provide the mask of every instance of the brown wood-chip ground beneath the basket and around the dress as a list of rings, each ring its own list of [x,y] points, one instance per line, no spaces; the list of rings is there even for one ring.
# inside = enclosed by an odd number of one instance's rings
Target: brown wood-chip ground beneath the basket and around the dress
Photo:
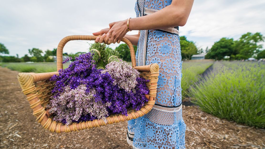
[[[0,148],[131,148],[127,122],[72,133],[50,133],[35,121],[16,71],[0,68]],[[183,107],[187,148],[265,148],[265,132]],[[257,147],[255,147],[257,146]]]

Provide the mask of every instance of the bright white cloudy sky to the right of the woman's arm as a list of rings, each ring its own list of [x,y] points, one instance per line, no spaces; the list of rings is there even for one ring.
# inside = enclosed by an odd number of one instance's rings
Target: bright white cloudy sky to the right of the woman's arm
[[[265,34],[265,1],[195,1],[188,22],[180,27],[198,46],[211,47],[222,37],[237,40],[247,32]]]

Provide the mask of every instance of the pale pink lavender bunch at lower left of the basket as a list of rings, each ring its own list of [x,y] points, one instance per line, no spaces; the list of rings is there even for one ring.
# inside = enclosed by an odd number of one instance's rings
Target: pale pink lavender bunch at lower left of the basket
[[[86,89],[83,84],[76,89],[70,89],[68,85],[59,96],[51,97],[46,107],[50,108],[50,113],[56,113],[53,120],[66,121],[66,125],[69,125],[72,121],[78,121],[81,115],[89,114],[107,122],[107,107],[111,103],[95,102],[96,90],[90,89],[89,93],[86,93]]]

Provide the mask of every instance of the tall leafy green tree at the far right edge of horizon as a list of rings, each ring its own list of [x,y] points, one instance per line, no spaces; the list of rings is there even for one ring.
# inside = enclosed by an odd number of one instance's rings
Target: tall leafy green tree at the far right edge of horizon
[[[254,54],[258,54],[262,49],[262,44],[258,44],[264,41],[264,37],[261,33],[252,34],[250,32],[242,35],[238,41],[235,41],[233,49],[235,49],[237,59],[248,59]]]

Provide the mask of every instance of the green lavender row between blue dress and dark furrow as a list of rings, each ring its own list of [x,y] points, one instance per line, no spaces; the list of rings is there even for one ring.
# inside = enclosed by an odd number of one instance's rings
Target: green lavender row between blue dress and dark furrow
[[[213,62],[188,62],[184,61],[182,63],[182,97],[187,97],[189,92],[189,87],[198,80],[201,79],[201,74],[213,65]]]

